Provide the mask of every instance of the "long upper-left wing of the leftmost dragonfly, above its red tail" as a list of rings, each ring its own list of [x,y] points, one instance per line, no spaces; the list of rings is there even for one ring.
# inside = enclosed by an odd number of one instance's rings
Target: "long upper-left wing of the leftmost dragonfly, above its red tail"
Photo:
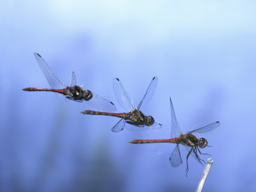
[[[34,56],[36,58],[36,61],[41,68],[42,72],[44,73],[45,78],[47,79],[48,83],[50,84],[52,89],[63,89],[67,87],[67,84],[65,84],[60,77],[58,77],[51,67],[46,63],[44,58],[40,56],[37,52],[34,52]]]

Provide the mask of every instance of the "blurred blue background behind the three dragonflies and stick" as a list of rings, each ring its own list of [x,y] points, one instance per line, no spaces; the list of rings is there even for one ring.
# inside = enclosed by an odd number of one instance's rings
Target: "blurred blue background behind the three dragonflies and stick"
[[[201,150],[214,161],[205,191],[255,191],[255,1],[0,1],[1,191],[195,191],[204,166],[170,165],[170,99],[183,133],[220,121]],[[118,118],[51,92],[38,52],[69,84],[113,101],[118,77],[156,131],[113,133]],[[207,161],[209,156],[200,156]]]

